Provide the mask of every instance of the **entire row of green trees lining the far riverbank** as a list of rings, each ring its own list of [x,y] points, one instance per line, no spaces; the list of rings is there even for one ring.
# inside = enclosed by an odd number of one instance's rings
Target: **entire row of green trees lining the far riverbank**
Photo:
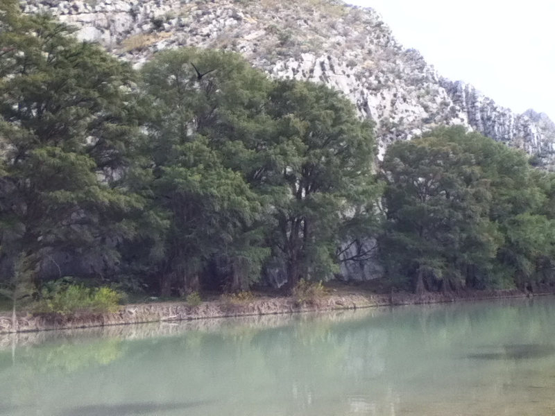
[[[15,1],[0,13],[0,286],[14,305],[112,302],[89,289],[105,285],[292,290],[341,261],[381,261],[417,292],[553,280],[555,177],[518,150],[439,128],[378,169],[373,125],[323,85],[196,49],[137,72]]]

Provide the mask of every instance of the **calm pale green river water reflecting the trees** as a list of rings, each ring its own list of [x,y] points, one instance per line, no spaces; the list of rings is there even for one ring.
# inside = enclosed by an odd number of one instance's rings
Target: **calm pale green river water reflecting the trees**
[[[555,299],[0,336],[0,415],[555,415]]]

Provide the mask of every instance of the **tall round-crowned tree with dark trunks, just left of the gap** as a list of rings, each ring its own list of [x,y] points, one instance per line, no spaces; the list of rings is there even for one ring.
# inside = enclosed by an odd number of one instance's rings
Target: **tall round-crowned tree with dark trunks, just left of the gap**
[[[336,250],[345,220],[373,215],[360,208],[378,191],[374,137],[352,103],[324,85],[280,81],[268,112],[276,130],[265,146],[271,164],[262,169],[262,183],[274,189],[271,245],[291,288],[300,279],[339,272]]]

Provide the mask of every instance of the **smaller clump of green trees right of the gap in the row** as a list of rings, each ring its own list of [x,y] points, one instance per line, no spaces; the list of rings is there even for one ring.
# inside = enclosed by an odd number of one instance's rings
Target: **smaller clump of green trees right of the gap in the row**
[[[554,175],[463,128],[393,144],[382,164],[388,274],[416,292],[551,284]]]

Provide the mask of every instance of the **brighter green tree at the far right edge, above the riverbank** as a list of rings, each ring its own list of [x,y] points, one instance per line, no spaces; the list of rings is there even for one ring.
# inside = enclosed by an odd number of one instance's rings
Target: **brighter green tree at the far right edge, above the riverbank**
[[[522,150],[479,135],[468,135],[464,146],[475,157],[490,182],[489,220],[502,236],[494,263],[493,280],[502,286],[533,288],[549,269],[554,234],[549,213],[549,173],[531,168]],[[547,188],[546,188],[547,187]]]

